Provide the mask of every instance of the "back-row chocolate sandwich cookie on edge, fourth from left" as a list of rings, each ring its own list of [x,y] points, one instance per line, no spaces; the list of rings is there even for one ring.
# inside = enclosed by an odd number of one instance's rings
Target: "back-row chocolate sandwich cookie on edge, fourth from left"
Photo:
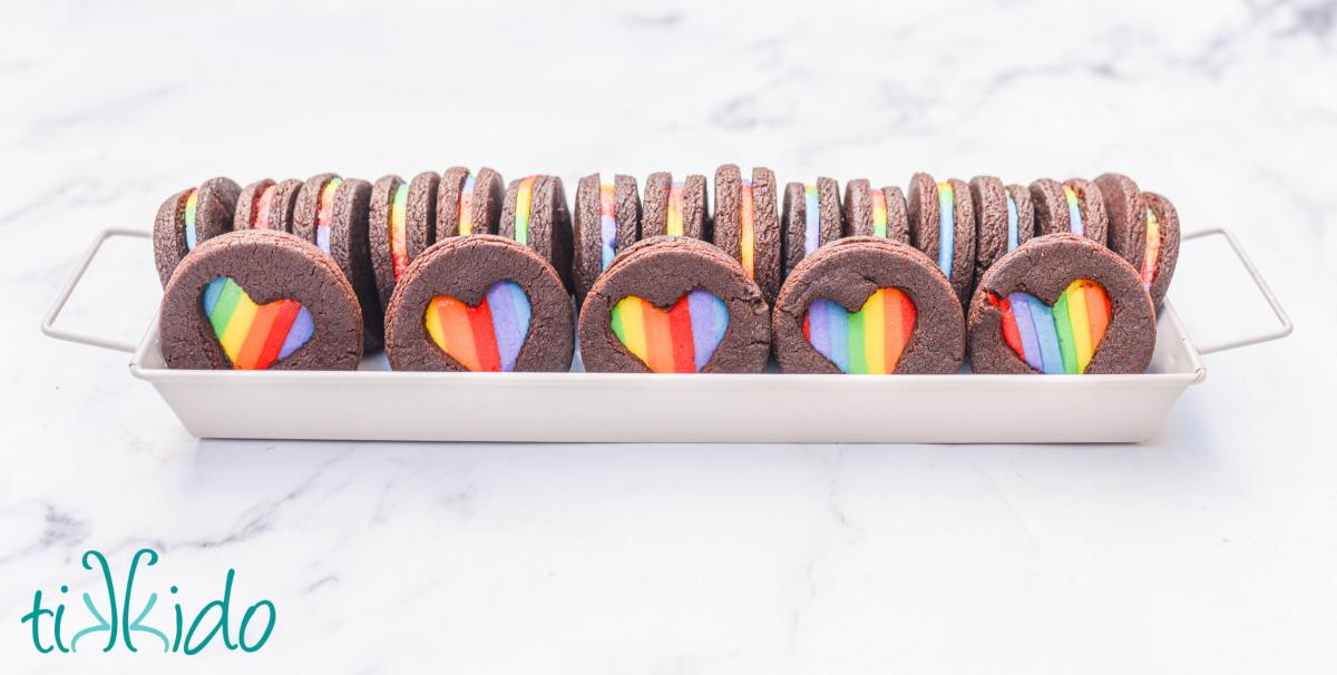
[[[428,242],[436,230],[436,191],[440,178],[425,171],[405,183],[396,175],[372,186],[368,219],[372,270],[381,306],[389,306],[394,285],[418,251],[409,242]]]

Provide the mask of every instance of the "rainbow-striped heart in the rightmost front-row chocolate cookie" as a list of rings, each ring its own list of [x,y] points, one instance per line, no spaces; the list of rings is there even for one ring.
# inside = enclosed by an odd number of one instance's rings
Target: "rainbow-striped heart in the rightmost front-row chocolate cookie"
[[[1091,279],[1078,279],[1052,305],[1029,293],[989,295],[1003,313],[1003,340],[1031,368],[1046,374],[1084,373],[1110,327],[1110,295]]]

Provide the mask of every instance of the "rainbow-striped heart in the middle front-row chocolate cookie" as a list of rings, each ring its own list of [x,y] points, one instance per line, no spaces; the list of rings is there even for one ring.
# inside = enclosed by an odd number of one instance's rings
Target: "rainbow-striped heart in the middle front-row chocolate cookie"
[[[627,295],[614,305],[610,325],[622,345],[651,372],[699,373],[725,338],[729,307],[702,289],[678,298],[668,311]]]

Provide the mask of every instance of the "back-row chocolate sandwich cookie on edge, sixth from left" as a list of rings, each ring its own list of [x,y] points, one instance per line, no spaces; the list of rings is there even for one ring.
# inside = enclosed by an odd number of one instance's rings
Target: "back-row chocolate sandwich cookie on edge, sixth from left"
[[[505,188],[499,234],[528,246],[562,277],[567,291],[571,282],[571,211],[562,179],[533,175],[511,180]]]

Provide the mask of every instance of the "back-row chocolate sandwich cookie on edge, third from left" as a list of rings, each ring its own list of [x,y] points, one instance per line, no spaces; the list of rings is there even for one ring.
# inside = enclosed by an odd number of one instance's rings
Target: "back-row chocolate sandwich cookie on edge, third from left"
[[[385,322],[372,271],[366,211],[370,198],[372,186],[366,180],[317,175],[297,192],[293,234],[334,258],[362,306],[362,350],[378,352]]]

